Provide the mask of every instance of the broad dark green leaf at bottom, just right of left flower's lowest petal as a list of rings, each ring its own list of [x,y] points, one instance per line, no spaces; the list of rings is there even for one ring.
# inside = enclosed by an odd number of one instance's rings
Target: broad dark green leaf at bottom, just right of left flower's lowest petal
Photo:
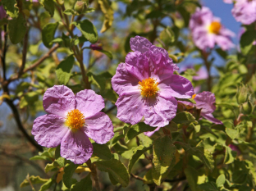
[[[112,158],[109,161],[95,161],[99,171],[105,171],[112,175],[112,177],[121,184],[122,187],[126,187],[129,184],[129,173],[126,166],[121,161]]]

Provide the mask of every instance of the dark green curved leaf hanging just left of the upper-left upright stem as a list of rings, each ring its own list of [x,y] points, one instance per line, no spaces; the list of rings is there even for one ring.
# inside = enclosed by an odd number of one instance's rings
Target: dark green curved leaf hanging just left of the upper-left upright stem
[[[42,30],[42,40],[44,46],[47,48],[52,48],[53,47],[53,39],[54,39],[54,34],[57,30],[58,22],[56,23],[48,23],[43,27]]]

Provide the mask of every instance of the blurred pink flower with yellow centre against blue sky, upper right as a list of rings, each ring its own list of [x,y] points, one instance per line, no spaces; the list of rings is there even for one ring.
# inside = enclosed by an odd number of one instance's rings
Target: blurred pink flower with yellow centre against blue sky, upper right
[[[208,7],[197,8],[190,18],[190,30],[195,45],[201,50],[214,48],[217,44],[222,50],[233,48],[231,37],[235,36],[231,30],[227,30],[221,20],[213,16]]]

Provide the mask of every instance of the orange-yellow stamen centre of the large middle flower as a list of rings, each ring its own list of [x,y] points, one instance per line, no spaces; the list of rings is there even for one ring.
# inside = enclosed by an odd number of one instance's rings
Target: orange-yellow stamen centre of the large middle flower
[[[158,82],[153,80],[153,78],[148,78],[139,81],[139,89],[141,90],[141,95],[143,97],[153,97],[158,92]]]

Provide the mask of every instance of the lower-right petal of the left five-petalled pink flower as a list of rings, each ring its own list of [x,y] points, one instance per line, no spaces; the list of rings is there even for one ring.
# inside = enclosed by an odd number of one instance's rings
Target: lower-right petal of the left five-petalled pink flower
[[[85,134],[96,143],[107,143],[114,136],[113,125],[110,118],[103,112],[85,119]]]

